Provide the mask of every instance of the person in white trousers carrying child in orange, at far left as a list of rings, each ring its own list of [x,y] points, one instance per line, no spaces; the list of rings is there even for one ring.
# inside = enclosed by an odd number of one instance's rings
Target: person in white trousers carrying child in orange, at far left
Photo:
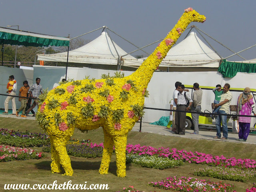
[[[8,104],[9,101],[12,100],[12,114],[16,115],[16,103],[15,103],[15,97],[12,96],[16,96],[16,88],[17,88],[17,82],[14,79],[14,76],[11,75],[9,76],[9,82],[7,84],[7,93],[10,96],[7,96],[6,100],[4,101],[4,112],[3,114],[8,114]]]

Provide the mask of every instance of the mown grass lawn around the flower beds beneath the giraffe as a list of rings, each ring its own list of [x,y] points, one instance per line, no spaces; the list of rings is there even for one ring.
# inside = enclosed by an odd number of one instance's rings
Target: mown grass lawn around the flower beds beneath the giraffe
[[[8,128],[13,130],[30,132],[42,132],[35,120],[24,120],[16,118],[0,118],[0,128]],[[79,130],[75,130],[72,138],[90,139],[92,143],[101,143],[104,141],[103,131],[101,128],[90,131],[87,134],[82,134]],[[152,147],[169,147],[184,149],[187,151],[198,151],[212,155],[224,155],[235,158],[250,158],[256,159],[256,145],[234,143],[234,142],[218,142],[208,140],[194,140],[172,136],[162,136],[157,134],[130,132],[128,134],[128,143],[140,144]],[[35,147],[36,148],[36,147]],[[36,148],[42,151],[42,148]],[[47,153],[46,153],[47,154]],[[98,173],[100,168],[101,158],[79,158],[70,156],[73,176],[62,176],[61,174],[52,174],[50,169],[51,155],[47,154],[46,158],[40,160],[12,161],[0,162],[0,192],[4,192],[4,184],[52,184],[57,180],[58,184],[63,184],[72,180],[72,184],[84,184],[87,182],[87,187],[90,184],[108,184],[108,190],[54,190],[58,191],[109,191],[116,192],[124,187],[134,186],[137,190],[145,192],[164,192],[166,190],[147,186],[148,182],[162,180],[167,177],[196,177],[200,179],[210,179],[211,181],[220,181],[215,178],[202,178],[194,176],[195,169],[205,168],[206,165],[185,163],[184,166],[177,168],[169,168],[165,170],[156,170],[151,168],[142,168],[138,165],[128,164],[126,167],[126,177],[118,178],[116,176],[116,159],[115,154],[112,155],[109,174],[101,175]],[[252,187],[256,178],[249,180],[246,183],[233,182],[224,180],[228,184],[235,184],[237,192],[245,192],[246,188]],[[9,190],[19,191],[19,190]],[[21,190],[20,190],[21,191]],[[25,190],[24,190],[25,191]],[[38,190],[30,190],[38,191]],[[42,190],[50,191],[50,190]]]

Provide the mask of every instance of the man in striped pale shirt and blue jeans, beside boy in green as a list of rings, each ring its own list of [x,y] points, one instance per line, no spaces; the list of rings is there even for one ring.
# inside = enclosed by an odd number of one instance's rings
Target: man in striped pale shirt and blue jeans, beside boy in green
[[[214,139],[222,139],[226,140],[228,139],[228,125],[227,125],[227,116],[226,115],[221,115],[221,114],[229,114],[229,106],[230,102],[232,100],[232,94],[229,91],[230,89],[230,84],[226,83],[223,87],[223,93],[220,98],[220,102],[218,104],[215,104],[214,107],[217,108],[218,106],[220,107],[220,110],[218,111],[218,116],[216,116],[216,129],[217,129],[217,134]],[[223,137],[221,137],[220,133],[220,122],[222,122],[222,130],[223,130]]]

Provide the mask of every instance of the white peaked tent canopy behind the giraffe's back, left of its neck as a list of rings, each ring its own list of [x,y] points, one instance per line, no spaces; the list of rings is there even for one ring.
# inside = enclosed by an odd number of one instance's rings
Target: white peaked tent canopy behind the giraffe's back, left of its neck
[[[114,42],[113,42],[114,43]],[[102,32],[102,34],[89,42],[88,44],[77,48],[75,50],[71,50],[68,52],[62,52],[58,54],[38,54],[38,60],[43,61],[55,61],[55,62],[66,62],[68,55],[68,62],[73,63],[89,63],[89,64],[107,64],[107,65],[117,65],[118,54],[119,56],[127,54],[122,48],[120,48],[116,43],[111,42],[110,37],[106,32]],[[116,53],[118,52],[118,54]],[[134,58],[131,55],[124,56],[122,58],[125,60],[134,60],[138,59]]]

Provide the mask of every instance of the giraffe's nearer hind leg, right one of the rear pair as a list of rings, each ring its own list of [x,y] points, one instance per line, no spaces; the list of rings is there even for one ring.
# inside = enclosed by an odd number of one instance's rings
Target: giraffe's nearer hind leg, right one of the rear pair
[[[70,138],[70,136],[66,137],[55,137],[56,140],[54,140],[54,146],[58,153],[58,156],[60,158],[60,164],[64,168],[65,174],[72,176],[73,169],[71,167],[70,158],[68,156],[67,150],[66,150],[66,144]]]

